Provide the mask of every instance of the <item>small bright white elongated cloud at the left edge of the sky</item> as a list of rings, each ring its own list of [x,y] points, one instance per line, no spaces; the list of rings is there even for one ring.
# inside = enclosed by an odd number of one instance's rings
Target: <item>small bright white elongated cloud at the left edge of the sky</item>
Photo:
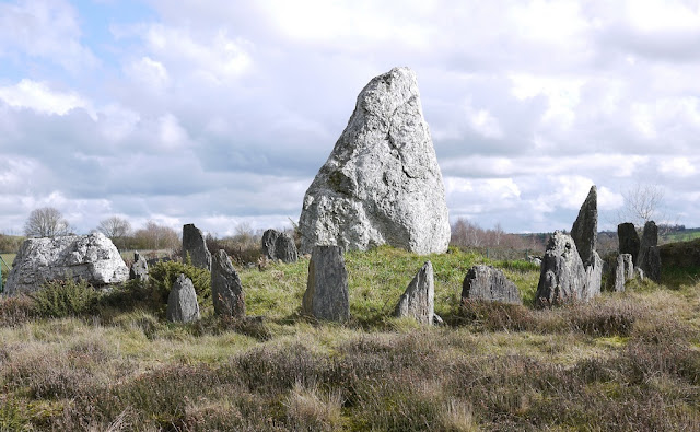
[[[96,115],[91,103],[75,92],[59,92],[45,82],[23,79],[15,85],[0,87],[0,100],[16,108],[30,108],[44,114],[65,115],[71,109],[83,108],[93,119]]]

